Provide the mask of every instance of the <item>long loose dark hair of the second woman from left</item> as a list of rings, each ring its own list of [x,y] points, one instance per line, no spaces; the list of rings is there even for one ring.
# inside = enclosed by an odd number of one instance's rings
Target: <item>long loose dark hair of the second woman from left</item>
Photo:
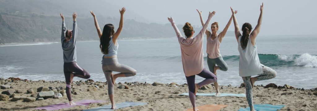
[[[109,41],[111,40],[110,36],[114,34],[112,24],[106,24],[103,27],[102,36],[100,37],[100,50],[103,54],[108,54]]]

